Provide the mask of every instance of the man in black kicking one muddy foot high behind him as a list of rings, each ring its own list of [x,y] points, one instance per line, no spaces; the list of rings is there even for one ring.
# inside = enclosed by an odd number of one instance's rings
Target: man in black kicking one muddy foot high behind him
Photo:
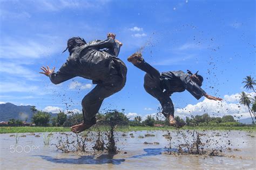
[[[204,79],[197,73],[192,74],[187,70],[188,73],[184,73],[183,71],[169,71],[162,72],[160,74],[158,70],[145,62],[142,57],[142,53],[139,52],[134,53],[132,56],[127,58],[127,60],[140,70],[146,72],[144,77],[144,89],[147,93],[160,101],[163,109],[162,113],[167,119],[169,119],[171,126],[181,126],[178,125],[177,121],[174,119],[174,107],[170,98],[172,93],[187,90],[198,100],[202,96],[205,96],[210,100],[222,100],[208,95],[203,89],[201,89],[200,86]]]

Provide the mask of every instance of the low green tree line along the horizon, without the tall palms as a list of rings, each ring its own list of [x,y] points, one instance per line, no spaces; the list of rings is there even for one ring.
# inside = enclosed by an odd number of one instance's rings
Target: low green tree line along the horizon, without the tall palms
[[[211,117],[207,113],[203,115],[195,115],[181,119],[179,116],[175,117],[179,124],[186,124],[186,126],[244,126],[234,119],[232,115],[224,115],[223,117]],[[164,125],[169,126],[167,119],[159,119],[158,116],[152,117],[147,115],[146,119],[137,116],[130,120],[124,114],[124,110],[119,112],[117,110],[109,111],[106,113],[98,113],[96,115],[97,123],[102,125],[126,125],[126,126],[156,126]],[[57,117],[51,118],[47,112],[36,111],[32,116],[32,122],[36,126],[73,126],[83,121],[82,113],[73,113],[67,115],[59,111]],[[19,120],[10,120],[10,124],[21,123]]]

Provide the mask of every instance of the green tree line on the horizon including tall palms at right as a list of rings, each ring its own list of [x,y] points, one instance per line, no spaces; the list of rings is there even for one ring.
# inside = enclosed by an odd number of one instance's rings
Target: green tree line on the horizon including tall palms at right
[[[244,78],[245,80],[242,83],[245,84],[244,88],[247,90],[254,90],[254,85],[256,85],[256,81],[251,76],[247,76]],[[248,111],[252,118],[252,123],[254,124],[255,112],[256,112],[256,97],[251,98],[250,94],[245,92],[240,93],[240,104],[248,107]],[[186,126],[240,126],[241,124],[238,121],[234,120],[232,115],[224,115],[222,118],[220,117],[210,117],[210,115],[195,115],[190,117],[186,117],[185,120],[181,119],[179,116],[176,116],[175,119],[179,124],[186,124]],[[156,124],[169,126],[169,121],[167,119],[160,120],[158,117],[156,119],[151,115],[148,115],[145,120],[142,120],[142,117],[137,116],[134,120],[129,120],[124,114],[124,110],[119,112],[117,110],[108,111],[106,113],[98,113],[96,115],[96,120],[99,123],[107,123],[107,124],[120,124],[120,125],[130,125],[130,126],[154,126]],[[57,117],[51,118],[51,115],[47,112],[38,111],[35,106],[31,107],[31,122],[36,126],[73,126],[83,121],[82,113],[72,113],[65,114],[62,111],[59,111]],[[21,120],[10,119],[9,124],[17,124],[21,125]]]

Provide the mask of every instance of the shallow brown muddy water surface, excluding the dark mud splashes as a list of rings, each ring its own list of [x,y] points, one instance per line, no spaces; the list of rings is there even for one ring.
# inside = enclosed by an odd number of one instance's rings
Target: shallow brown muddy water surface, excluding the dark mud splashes
[[[221,156],[163,154],[177,151],[178,146],[187,140],[193,140],[192,131],[138,131],[118,133],[116,146],[119,153],[93,154],[90,149],[94,144],[87,141],[87,152],[63,153],[55,145],[44,145],[43,133],[25,133],[16,144],[12,134],[0,134],[1,169],[211,169],[211,168],[255,168],[256,149],[255,132],[246,131],[200,131],[205,144],[204,149],[219,149]],[[74,138],[66,132],[68,138]],[[133,135],[130,135],[133,133]],[[45,136],[48,133],[45,133]],[[146,135],[145,134],[153,134]],[[185,138],[183,137],[185,135]],[[14,134],[15,135],[15,134]],[[20,134],[19,134],[20,135]],[[97,133],[91,135],[97,136]],[[134,137],[133,137],[134,136]],[[66,134],[53,133],[50,144],[56,144]],[[116,135],[117,137],[117,135]],[[140,137],[140,138],[139,138]],[[144,137],[144,138],[142,138]],[[58,138],[58,139],[57,139]],[[211,139],[211,142],[207,140]],[[206,142],[207,141],[207,142]],[[144,142],[150,144],[144,144]],[[159,142],[159,144],[158,144]],[[171,146],[171,148],[170,148]],[[167,148],[166,148],[167,147]]]

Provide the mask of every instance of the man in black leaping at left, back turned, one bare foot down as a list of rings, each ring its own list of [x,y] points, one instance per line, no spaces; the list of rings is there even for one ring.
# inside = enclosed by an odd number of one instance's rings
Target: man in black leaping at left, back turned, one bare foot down
[[[77,76],[91,79],[93,84],[97,84],[83,98],[84,121],[72,126],[72,132],[79,133],[96,124],[96,114],[103,100],[123,89],[125,85],[127,69],[122,60],[117,58],[123,44],[115,38],[113,33],[108,33],[106,40],[94,40],[90,43],[80,37],[70,38],[66,48],[70,56],[59,71],[55,73],[55,67],[52,70],[49,66],[41,68],[43,72],[40,73],[48,76],[53,84]]]

